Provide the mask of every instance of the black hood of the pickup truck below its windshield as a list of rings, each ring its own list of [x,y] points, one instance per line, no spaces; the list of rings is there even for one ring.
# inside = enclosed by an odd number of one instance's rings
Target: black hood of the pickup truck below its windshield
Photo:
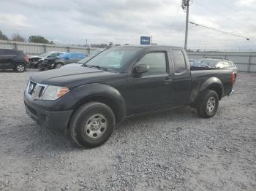
[[[70,90],[88,83],[105,82],[105,79],[115,75],[118,74],[89,67],[71,67],[42,71],[31,76],[30,79],[43,85],[65,86]]]

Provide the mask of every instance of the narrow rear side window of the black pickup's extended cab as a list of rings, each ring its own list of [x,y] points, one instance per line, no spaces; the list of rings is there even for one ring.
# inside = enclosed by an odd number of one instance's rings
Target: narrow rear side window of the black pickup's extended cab
[[[181,50],[172,50],[173,53],[173,65],[174,72],[181,73],[182,71],[187,70],[186,61]]]

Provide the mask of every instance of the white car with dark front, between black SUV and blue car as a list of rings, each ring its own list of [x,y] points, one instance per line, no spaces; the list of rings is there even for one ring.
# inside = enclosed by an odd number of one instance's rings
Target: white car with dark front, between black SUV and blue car
[[[45,59],[45,58],[54,58],[54,57],[57,57],[63,53],[66,53],[66,52],[56,52],[56,51],[52,51],[52,52],[46,52],[46,53],[43,53],[42,55],[35,55],[35,56],[31,56],[29,58],[29,62],[30,62],[30,67],[31,68],[38,68],[39,64],[42,63],[42,61]]]

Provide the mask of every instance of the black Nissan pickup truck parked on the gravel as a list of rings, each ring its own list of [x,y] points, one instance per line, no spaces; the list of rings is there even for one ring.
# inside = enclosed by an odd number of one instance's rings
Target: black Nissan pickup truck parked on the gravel
[[[190,69],[180,47],[113,47],[83,66],[30,77],[24,102],[39,124],[68,130],[81,147],[97,147],[127,117],[182,106],[213,117],[234,82],[229,69]]]

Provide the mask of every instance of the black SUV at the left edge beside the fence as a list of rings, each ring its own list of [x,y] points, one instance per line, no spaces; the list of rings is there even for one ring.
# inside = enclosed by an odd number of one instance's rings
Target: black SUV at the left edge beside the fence
[[[29,57],[20,50],[0,49],[0,69],[26,71],[29,67]]]

